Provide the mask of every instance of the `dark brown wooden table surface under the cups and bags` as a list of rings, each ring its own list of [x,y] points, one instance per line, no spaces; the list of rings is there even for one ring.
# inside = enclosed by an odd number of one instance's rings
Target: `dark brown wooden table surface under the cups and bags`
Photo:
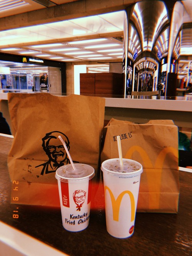
[[[178,214],[137,213],[134,234],[118,239],[106,230],[102,207],[91,209],[89,226],[77,233],[62,226],[59,208],[10,204],[7,154],[12,138],[0,136],[0,220],[71,256],[192,255],[192,173],[180,171]]]

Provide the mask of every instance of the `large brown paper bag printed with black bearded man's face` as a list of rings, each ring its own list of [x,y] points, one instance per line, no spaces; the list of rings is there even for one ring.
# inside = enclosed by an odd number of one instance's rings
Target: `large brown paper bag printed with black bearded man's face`
[[[14,140],[8,154],[12,203],[60,206],[56,170],[70,163],[100,162],[105,100],[81,95],[9,93]],[[96,177],[96,175],[95,175]]]

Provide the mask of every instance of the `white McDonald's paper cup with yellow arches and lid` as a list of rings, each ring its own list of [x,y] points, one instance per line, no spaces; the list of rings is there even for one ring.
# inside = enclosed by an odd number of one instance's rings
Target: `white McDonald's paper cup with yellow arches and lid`
[[[134,232],[142,165],[119,158],[102,163],[107,231],[116,238],[128,238]]]

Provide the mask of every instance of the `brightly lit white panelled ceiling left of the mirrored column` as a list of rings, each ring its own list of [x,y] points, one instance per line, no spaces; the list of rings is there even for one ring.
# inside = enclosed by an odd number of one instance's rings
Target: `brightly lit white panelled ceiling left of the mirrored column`
[[[124,11],[120,11],[0,31],[0,52],[60,62],[122,62],[123,19]],[[109,65],[101,68],[109,72]]]

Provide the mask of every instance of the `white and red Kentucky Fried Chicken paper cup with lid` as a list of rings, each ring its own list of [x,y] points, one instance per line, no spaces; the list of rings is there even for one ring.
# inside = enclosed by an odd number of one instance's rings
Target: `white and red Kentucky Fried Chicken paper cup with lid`
[[[94,168],[76,163],[56,170],[63,227],[72,232],[88,227]]]

